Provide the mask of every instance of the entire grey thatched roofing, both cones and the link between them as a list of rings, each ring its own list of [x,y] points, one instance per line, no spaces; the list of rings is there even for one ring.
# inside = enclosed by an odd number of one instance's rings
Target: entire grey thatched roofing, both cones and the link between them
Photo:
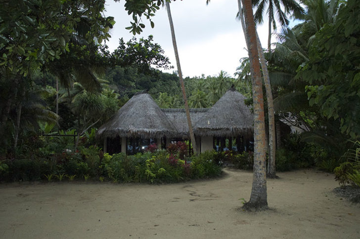
[[[245,97],[230,88],[210,109],[190,109],[195,135],[250,136],[253,115]],[[188,138],[184,109],[160,109],[151,96],[135,94],[108,122],[97,130],[97,137]]]

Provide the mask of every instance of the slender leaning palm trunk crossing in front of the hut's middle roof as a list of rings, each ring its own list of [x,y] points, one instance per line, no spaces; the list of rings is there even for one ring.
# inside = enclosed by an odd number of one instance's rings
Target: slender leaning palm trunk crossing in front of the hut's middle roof
[[[191,124],[191,118],[190,118],[190,110],[189,110],[189,105],[187,103],[184,80],[182,79],[182,73],[181,73],[181,67],[180,67],[180,59],[179,59],[179,53],[178,53],[178,46],[177,46],[176,38],[175,38],[175,30],[174,30],[173,18],[171,17],[170,4],[169,4],[168,1],[166,2],[166,9],[167,9],[167,12],[168,12],[168,17],[169,17],[169,23],[170,23],[170,29],[171,29],[171,37],[173,39],[173,46],[174,46],[174,51],[175,51],[176,65],[178,67],[178,74],[179,74],[179,80],[180,80],[180,85],[181,85],[182,97],[184,98],[184,102],[185,102],[185,112],[186,112],[187,126],[189,127],[189,134],[190,134],[190,139],[191,139],[192,148],[194,150],[194,154],[197,155],[197,147],[196,147],[196,141],[195,141],[194,132],[192,130],[192,124]]]

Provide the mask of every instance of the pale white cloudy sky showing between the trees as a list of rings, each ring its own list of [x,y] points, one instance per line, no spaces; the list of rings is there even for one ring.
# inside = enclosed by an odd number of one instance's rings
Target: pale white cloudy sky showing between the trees
[[[106,15],[113,16],[116,24],[111,31],[111,39],[106,42],[109,50],[117,48],[119,38],[130,40],[134,35],[126,30],[132,17],[125,11],[125,0],[114,2],[106,0]],[[177,0],[170,4],[180,56],[182,75],[195,77],[217,75],[221,70],[230,76],[236,71],[241,57],[247,57],[245,39],[240,21],[235,19],[237,0]],[[151,28],[147,19],[141,35],[154,36],[154,42],[161,45],[165,55],[176,69],[174,48],[166,8],[160,7],[152,18],[155,27]],[[263,48],[267,47],[267,22],[258,27],[258,34]],[[272,37],[271,41],[274,41]]]

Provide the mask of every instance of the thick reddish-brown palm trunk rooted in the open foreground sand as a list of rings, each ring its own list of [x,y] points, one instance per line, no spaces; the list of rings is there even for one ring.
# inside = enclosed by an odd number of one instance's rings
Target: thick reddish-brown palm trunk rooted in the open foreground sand
[[[243,206],[246,210],[262,210],[268,208],[266,185],[266,145],[264,139],[265,116],[262,80],[257,48],[257,37],[251,0],[243,0],[245,8],[246,34],[249,38],[250,69],[253,76],[253,108],[254,108],[254,174],[250,200]]]

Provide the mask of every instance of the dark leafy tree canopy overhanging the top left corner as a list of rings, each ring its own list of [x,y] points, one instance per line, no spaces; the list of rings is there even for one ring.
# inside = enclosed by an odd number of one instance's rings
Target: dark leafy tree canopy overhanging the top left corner
[[[86,22],[88,28],[82,35],[89,42],[101,42],[110,37],[108,31],[114,24],[113,17],[101,15],[104,0],[12,0],[1,3],[0,75],[4,77],[0,79],[0,84],[11,87],[1,89],[1,101],[5,107],[0,109],[0,134],[8,125],[11,109],[17,111],[17,119],[22,118],[24,107],[20,99],[23,92],[30,89],[21,87],[30,87],[31,75],[36,70],[70,51],[70,39],[79,33],[83,23]],[[19,127],[15,131],[19,132]],[[14,145],[17,145],[16,138]]]

